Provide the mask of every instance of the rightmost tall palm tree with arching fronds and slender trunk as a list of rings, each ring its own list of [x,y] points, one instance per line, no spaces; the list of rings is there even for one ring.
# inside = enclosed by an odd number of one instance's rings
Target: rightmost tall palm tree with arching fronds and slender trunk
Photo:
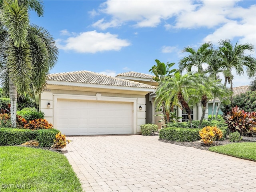
[[[218,54],[221,60],[221,65],[224,68],[224,86],[226,86],[227,82],[230,83],[230,101],[233,102],[232,80],[234,75],[232,74],[232,70],[235,70],[236,74],[240,76],[244,74],[245,67],[246,74],[249,78],[256,76],[256,59],[250,55],[246,56],[244,54],[247,50],[253,52],[254,46],[250,43],[238,44],[238,42],[233,46],[228,39],[220,40],[218,44]],[[221,98],[219,99],[215,118],[218,116],[220,104]]]

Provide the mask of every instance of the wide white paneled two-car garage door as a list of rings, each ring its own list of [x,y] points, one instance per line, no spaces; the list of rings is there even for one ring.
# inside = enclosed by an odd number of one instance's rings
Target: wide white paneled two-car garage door
[[[132,134],[132,103],[57,100],[57,129],[66,135]]]

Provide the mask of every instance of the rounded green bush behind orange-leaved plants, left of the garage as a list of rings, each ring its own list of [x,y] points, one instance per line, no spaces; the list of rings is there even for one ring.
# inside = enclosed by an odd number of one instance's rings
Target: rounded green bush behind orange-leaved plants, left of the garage
[[[44,112],[39,111],[36,108],[24,108],[20,111],[17,111],[18,116],[22,116],[27,121],[31,121],[34,119],[44,119]]]

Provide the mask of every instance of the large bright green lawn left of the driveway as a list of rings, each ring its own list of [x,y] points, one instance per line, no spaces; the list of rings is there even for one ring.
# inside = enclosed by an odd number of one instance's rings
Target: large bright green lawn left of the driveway
[[[82,192],[67,158],[40,148],[0,147],[0,191]]]

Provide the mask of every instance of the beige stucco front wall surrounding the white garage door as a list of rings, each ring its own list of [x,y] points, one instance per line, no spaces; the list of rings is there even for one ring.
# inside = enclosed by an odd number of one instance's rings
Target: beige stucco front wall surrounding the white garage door
[[[130,90],[112,90],[92,89],[69,86],[48,85],[45,92],[40,94],[39,109],[44,112],[46,120],[57,127],[56,105],[57,99],[74,99],[74,100],[101,100],[106,102],[131,102],[133,113],[132,133],[140,133],[140,125],[146,123],[146,99],[147,92],[130,91]],[[123,92],[123,93],[121,93]],[[50,102],[50,108],[47,104]],[[140,110],[139,106],[142,106]]]

